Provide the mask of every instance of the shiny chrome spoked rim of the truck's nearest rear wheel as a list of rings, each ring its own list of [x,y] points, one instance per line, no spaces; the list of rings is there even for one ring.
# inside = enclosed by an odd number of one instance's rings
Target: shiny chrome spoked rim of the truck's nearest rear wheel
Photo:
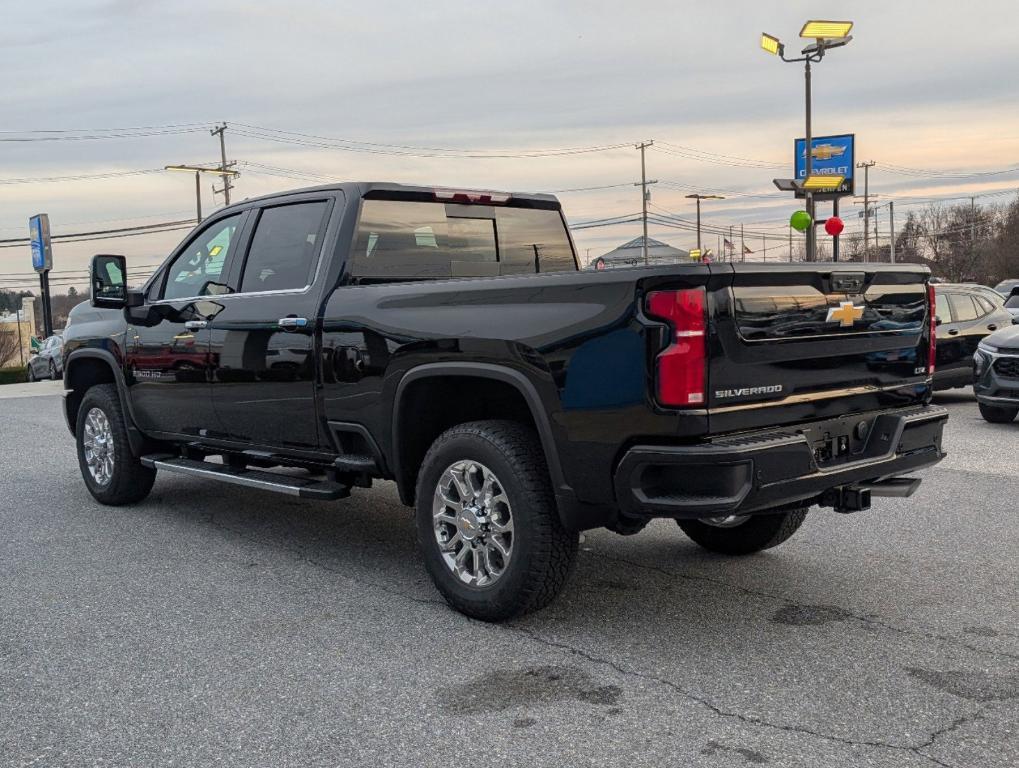
[[[513,511],[495,474],[477,461],[457,461],[439,478],[432,529],[442,560],[464,584],[488,587],[513,556]]]

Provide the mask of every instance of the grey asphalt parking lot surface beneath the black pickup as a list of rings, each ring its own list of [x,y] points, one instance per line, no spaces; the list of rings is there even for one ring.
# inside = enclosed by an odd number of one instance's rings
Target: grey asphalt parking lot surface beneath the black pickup
[[[1019,423],[961,390],[912,499],[745,559],[590,533],[498,626],[441,602],[388,484],[96,504],[39,386],[0,398],[0,765],[1019,764]]]

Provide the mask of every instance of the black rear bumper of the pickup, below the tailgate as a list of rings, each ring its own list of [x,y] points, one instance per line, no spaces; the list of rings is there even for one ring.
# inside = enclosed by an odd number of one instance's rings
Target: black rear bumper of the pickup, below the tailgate
[[[913,406],[759,431],[696,445],[631,448],[615,472],[621,510],[632,517],[709,517],[815,503],[833,489],[873,483],[929,467],[945,456],[948,412]],[[847,430],[849,450],[818,463],[818,445]]]

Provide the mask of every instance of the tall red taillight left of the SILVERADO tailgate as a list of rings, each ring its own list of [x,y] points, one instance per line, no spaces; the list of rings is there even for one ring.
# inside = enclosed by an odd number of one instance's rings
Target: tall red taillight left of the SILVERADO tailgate
[[[704,289],[657,290],[647,296],[647,314],[668,323],[672,343],[656,361],[655,385],[661,405],[704,404],[707,350]]]

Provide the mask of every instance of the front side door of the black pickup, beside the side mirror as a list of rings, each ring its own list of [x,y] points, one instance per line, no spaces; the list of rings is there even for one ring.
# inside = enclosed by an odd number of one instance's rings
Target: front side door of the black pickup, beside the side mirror
[[[224,266],[245,214],[203,227],[129,310],[127,376],[131,410],[144,432],[199,435],[216,426],[210,390],[209,322],[229,288]]]

